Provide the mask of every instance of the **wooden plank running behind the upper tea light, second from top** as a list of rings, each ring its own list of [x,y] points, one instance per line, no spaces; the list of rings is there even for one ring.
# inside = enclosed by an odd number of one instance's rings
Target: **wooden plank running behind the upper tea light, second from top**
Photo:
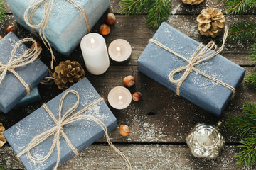
[[[238,20],[255,20],[256,16],[241,16]],[[103,18],[95,25],[92,29],[93,32],[98,32],[98,28],[100,24],[103,23]],[[228,23],[232,23],[233,18],[228,19]],[[197,30],[197,23],[195,16],[172,16],[169,18],[168,23],[174,28],[181,30],[181,32],[185,33],[189,37],[197,40],[198,42],[208,43],[210,42],[210,38],[206,38],[203,35],[200,35]],[[13,16],[8,16],[6,22],[4,22],[0,26],[0,35],[5,35],[5,30],[9,25],[16,24],[15,19]],[[136,18],[128,19],[125,16],[117,16],[117,23],[114,26],[111,26],[111,33],[110,35],[105,36],[105,40],[107,42],[107,46],[110,45],[115,39],[122,38],[127,40],[132,45],[132,55],[130,60],[128,60],[126,65],[137,65],[137,59],[139,55],[142,54],[144,48],[148,44],[149,38],[152,38],[154,35],[154,30],[150,30],[146,26],[146,18],[145,16],[138,16]],[[18,36],[20,38],[25,38],[28,36],[33,36],[31,33],[28,32],[25,28],[18,25]],[[221,37],[216,40],[216,43],[220,45]],[[226,42],[225,48],[221,54],[227,57],[229,60],[240,64],[240,65],[250,65],[251,62],[248,59],[250,54],[250,46],[253,42]],[[43,50],[48,57],[49,53],[46,49]],[[58,55],[58,61],[63,60],[63,57],[55,52],[55,55]],[[80,46],[74,50],[74,52],[70,55],[70,58],[83,62],[82,53],[80,50]],[[112,62],[112,65],[118,65],[118,63]],[[120,65],[120,64],[119,64]]]

